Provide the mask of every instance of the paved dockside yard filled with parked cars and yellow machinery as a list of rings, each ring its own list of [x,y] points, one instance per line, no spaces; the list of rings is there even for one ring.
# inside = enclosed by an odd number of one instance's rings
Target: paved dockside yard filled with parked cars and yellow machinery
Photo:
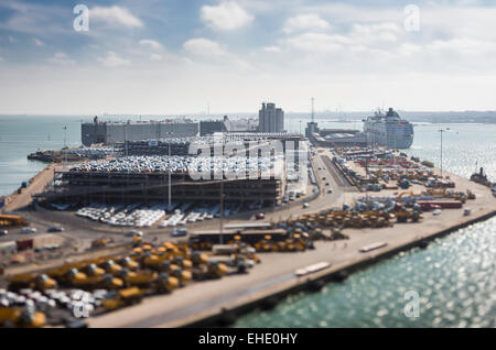
[[[216,155],[219,140],[246,152]],[[258,153],[274,140],[293,144]],[[207,156],[187,152],[194,142]],[[225,326],[496,209],[485,184],[387,147],[235,133],[96,150],[3,206],[3,326]]]

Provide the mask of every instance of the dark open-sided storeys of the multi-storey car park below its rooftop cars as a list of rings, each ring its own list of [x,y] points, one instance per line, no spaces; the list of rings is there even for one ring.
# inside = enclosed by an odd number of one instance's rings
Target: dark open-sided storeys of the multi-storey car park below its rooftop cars
[[[283,167],[282,167],[283,171]],[[247,175],[248,177],[249,175]],[[168,203],[169,172],[55,172],[56,181],[47,192],[37,195],[40,203]],[[171,198],[174,201],[218,201],[220,184],[224,200],[274,206],[282,197],[284,176],[270,178],[233,178],[192,181],[184,172],[171,175]]]

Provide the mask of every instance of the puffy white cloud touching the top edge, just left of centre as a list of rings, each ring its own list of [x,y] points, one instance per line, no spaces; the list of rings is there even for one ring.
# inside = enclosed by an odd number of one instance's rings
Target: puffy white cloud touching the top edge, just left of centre
[[[204,6],[201,18],[211,28],[230,31],[249,24],[254,17],[234,1],[225,1],[218,6]]]

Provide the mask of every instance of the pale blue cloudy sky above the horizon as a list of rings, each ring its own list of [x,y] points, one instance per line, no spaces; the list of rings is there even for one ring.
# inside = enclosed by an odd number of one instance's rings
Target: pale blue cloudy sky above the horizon
[[[483,0],[0,0],[0,113],[496,110],[495,19]]]

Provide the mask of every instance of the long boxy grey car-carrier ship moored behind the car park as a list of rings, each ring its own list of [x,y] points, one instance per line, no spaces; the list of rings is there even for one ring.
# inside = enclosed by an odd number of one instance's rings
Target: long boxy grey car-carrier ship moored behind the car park
[[[111,144],[170,136],[196,136],[200,133],[200,123],[188,119],[100,122],[98,117],[95,117],[93,123],[82,124],[80,133],[82,143],[89,146],[96,143]]]

